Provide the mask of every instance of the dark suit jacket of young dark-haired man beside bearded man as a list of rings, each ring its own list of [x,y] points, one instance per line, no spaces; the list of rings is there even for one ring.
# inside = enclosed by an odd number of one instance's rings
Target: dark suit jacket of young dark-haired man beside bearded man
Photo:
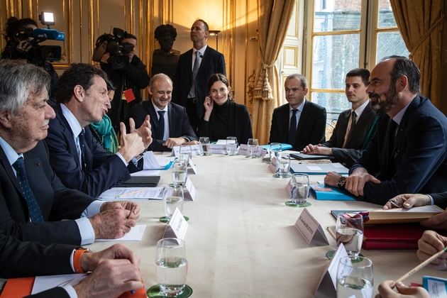
[[[342,148],[349,118],[351,118],[351,109],[341,112],[336,127],[333,128],[331,138],[326,143],[321,144],[322,147],[332,148],[335,157],[333,162],[343,162],[346,163],[346,167],[351,167],[355,160],[360,158],[365,138],[368,136],[376,117],[375,111],[371,109],[371,103],[368,102],[357,123],[355,123],[353,133],[350,133],[348,140],[346,140],[346,148]]]

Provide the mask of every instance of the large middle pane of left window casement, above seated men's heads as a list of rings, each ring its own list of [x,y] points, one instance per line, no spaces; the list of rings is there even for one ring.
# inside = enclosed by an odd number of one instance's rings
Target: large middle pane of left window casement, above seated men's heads
[[[346,73],[358,67],[360,34],[314,37],[312,88],[345,89]]]

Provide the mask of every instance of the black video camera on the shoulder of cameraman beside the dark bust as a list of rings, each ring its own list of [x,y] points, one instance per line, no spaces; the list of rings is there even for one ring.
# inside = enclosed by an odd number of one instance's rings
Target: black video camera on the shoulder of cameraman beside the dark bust
[[[114,28],[113,32],[113,35],[104,33],[96,39],[92,60],[101,62],[101,57],[106,53],[110,53],[107,62],[111,67],[114,70],[127,70],[129,67],[128,54],[133,51],[133,44],[119,43],[121,40],[126,39],[127,31]]]

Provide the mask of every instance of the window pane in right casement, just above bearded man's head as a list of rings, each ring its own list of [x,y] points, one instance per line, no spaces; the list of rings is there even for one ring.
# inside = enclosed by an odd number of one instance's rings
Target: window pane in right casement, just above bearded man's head
[[[399,31],[379,32],[377,33],[377,53],[375,62],[380,62],[383,57],[390,55],[399,55],[408,57],[409,51],[405,46],[404,40]]]

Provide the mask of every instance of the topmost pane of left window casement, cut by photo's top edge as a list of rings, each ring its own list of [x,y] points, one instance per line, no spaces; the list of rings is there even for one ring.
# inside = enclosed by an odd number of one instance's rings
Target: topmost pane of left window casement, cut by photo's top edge
[[[314,1],[314,32],[360,30],[361,0]]]

